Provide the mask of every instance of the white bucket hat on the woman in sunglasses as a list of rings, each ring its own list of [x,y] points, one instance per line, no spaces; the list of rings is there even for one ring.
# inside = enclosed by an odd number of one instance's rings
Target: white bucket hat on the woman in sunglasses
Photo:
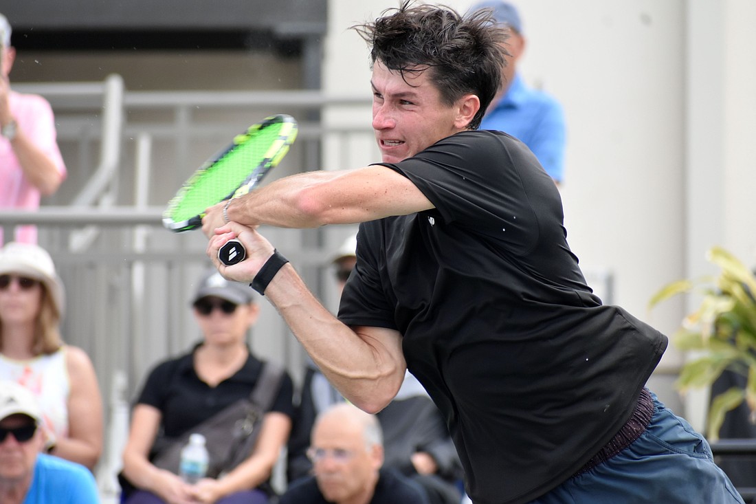
[[[63,317],[66,309],[63,282],[60,282],[47,250],[39,245],[11,241],[0,248],[0,275],[8,273],[28,276],[42,282],[50,293],[57,313]]]

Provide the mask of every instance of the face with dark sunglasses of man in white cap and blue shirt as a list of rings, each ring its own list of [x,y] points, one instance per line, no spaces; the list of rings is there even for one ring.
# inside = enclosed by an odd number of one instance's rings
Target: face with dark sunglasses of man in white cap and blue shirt
[[[34,463],[44,443],[39,429],[26,439],[34,426],[33,418],[26,415],[10,415],[0,420],[0,435],[5,436],[0,441],[0,484],[31,480]],[[16,436],[26,440],[18,440]]]

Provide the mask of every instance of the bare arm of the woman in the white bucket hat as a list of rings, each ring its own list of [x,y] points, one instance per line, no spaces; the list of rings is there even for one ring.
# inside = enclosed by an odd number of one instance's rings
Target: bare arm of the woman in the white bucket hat
[[[52,453],[94,468],[102,452],[102,397],[95,368],[80,348],[66,347],[66,367],[70,377],[68,397],[68,437],[55,440]]]

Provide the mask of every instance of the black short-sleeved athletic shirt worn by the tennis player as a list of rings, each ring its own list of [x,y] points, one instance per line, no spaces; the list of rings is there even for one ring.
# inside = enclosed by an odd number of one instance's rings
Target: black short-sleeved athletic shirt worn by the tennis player
[[[435,208],[360,226],[339,319],[403,335],[476,504],[529,502],[627,421],[667,338],[592,294],[522,142],[460,132],[381,164]]]

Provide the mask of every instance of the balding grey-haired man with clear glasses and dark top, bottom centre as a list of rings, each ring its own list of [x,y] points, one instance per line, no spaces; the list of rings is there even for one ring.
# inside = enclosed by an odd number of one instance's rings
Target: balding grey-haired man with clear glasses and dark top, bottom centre
[[[423,490],[382,468],[383,433],[373,415],[349,403],[315,421],[307,451],[314,475],[294,483],[279,504],[427,504]]]

